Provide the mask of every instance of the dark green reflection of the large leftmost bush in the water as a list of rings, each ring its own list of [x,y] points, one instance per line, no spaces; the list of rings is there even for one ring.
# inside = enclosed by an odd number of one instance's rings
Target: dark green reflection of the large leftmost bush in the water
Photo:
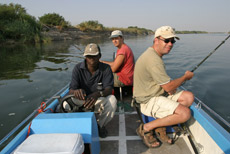
[[[28,46],[1,47],[0,52],[1,80],[28,79],[41,59],[39,50]]]

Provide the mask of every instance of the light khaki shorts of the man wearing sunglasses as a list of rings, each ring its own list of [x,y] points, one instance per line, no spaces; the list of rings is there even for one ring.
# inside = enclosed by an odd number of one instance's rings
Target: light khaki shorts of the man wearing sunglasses
[[[177,91],[174,95],[157,96],[151,98],[146,104],[141,105],[141,112],[146,116],[154,118],[163,118],[172,115],[179,103],[178,98],[183,91]]]

